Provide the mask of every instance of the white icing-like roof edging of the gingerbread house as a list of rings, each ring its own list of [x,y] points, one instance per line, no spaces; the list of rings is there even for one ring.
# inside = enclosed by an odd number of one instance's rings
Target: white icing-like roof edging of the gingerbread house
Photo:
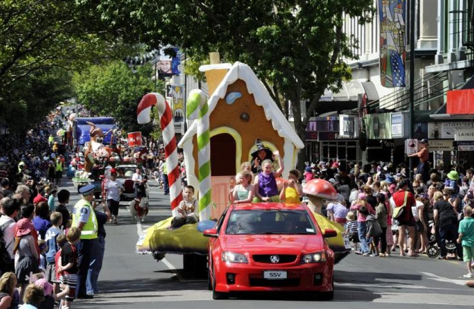
[[[298,134],[296,134],[294,128],[290,125],[288,120],[286,120],[281,110],[268,94],[265,86],[263,86],[255,73],[253,73],[252,69],[244,63],[237,61],[229,69],[224,79],[208,100],[209,112],[212,113],[219,100],[226,97],[227,87],[239,79],[245,82],[247,92],[253,95],[255,104],[263,107],[266,119],[271,121],[273,129],[278,133],[278,135],[290,140],[296,148],[302,149],[304,144]],[[185,140],[197,133],[197,125],[198,123],[196,121],[193,122],[181,139],[178,145],[179,147],[182,147]]]

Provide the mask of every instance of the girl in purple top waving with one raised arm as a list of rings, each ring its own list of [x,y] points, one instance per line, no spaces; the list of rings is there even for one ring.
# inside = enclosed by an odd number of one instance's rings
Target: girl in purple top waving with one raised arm
[[[262,172],[255,176],[253,182],[255,186],[255,199],[253,199],[253,202],[280,202],[276,178],[281,175],[284,166],[278,150],[273,151],[273,155],[278,159],[278,170],[273,172],[271,160],[263,160],[261,164]]]

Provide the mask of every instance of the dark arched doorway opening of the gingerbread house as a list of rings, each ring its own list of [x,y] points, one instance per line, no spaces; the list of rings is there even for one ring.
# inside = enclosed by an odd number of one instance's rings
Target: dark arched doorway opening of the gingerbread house
[[[211,137],[211,175],[236,175],[236,141],[231,134]]]

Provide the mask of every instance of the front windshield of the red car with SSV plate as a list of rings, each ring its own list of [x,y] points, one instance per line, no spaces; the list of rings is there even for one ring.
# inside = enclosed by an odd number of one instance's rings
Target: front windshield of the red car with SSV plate
[[[316,234],[316,228],[304,210],[234,210],[226,234]]]

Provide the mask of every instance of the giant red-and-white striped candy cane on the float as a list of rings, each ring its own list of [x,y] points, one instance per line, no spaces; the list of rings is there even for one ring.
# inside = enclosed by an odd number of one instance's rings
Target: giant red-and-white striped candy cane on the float
[[[173,121],[173,112],[170,105],[162,95],[149,93],[143,96],[137,107],[137,121],[139,124],[148,123],[150,119],[151,107],[155,105],[158,108],[160,116],[160,126],[165,144],[165,160],[168,170],[168,183],[170,185],[170,200],[173,216],[177,213],[175,208],[183,200],[181,189],[180,170],[178,167],[178,151],[176,147],[175,125]]]

